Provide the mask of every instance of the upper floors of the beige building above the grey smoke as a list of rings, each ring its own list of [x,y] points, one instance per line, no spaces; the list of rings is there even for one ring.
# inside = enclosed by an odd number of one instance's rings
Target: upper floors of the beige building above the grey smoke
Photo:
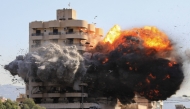
[[[76,45],[80,52],[86,50],[91,37],[103,36],[103,30],[85,20],[76,19],[73,9],[58,9],[57,19],[33,21],[29,24],[29,51],[50,41],[59,45]]]

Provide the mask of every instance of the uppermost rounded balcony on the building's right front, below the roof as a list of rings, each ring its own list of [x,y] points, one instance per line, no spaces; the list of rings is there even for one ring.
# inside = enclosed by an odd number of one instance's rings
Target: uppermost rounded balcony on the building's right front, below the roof
[[[87,40],[87,33],[83,32],[67,32],[65,34],[65,38],[74,38],[74,39],[82,39],[82,40]]]

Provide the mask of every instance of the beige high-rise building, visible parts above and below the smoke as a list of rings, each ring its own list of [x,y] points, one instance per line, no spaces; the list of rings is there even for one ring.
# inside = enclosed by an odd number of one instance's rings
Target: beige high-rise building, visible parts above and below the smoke
[[[89,39],[103,36],[103,30],[85,20],[76,19],[73,9],[58,9],[56,20],[33,21],[29,24],[29,52],[34,52],[45,42],[53,42],[63,46],[75,45],[79,53],[93,46]],[[47,109],[79,109],[99,107],[97,103],[84,102],[88,94],[83,91],[87,86],[81,83],[81,91],[64,92],[60,84],[37,82],[29,78],[26,83],[26,95]]]

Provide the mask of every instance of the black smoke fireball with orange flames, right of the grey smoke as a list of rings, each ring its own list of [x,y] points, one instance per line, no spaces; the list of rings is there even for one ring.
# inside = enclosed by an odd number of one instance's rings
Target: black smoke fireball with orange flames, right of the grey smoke
[[[121,31],[115,25],[95,51],[84,79],[90,96],[118,98],[123,104],[133,102],[135,94],[165,100],[184,79],[181,62],[171,55],[172,43],[156,27]]]

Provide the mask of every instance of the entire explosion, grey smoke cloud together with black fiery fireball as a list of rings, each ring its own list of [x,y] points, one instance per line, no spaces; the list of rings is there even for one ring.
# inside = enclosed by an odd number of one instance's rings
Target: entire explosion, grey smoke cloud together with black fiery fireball
[[[184,74],[172,52],[171,41],[156,27],[122,31],[115,25],[93,53],[82,57],[75,46],[50,44],[16,59],[5,69],[26,82],[31,76],[70,87],[82,81],[88,84],[89,97],[104,96],[127,104],[134,102],[135,94],[155,101],[176,93]]]

